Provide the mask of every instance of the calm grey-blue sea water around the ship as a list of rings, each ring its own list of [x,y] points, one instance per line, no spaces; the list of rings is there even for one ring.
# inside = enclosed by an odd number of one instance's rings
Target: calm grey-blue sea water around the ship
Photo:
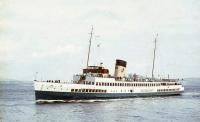
[[[0,82],[0,122],[200,122],[200,81],[181,96],[35,104],[32,82]]]

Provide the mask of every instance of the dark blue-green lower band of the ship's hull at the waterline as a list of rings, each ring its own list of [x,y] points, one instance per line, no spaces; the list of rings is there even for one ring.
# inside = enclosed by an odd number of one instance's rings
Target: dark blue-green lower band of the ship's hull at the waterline
[[[82,100],[82,99],[116,99],[131,97],[153,97],[180,95],[176,92],[151,92],[151,93],[72,93],[55,91],[35,91],[36,100]]]

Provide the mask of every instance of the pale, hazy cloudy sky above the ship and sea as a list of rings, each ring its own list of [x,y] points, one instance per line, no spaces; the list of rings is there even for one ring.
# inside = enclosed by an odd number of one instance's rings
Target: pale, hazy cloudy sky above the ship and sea
[[[90,65],[151,76],[158,33],[155,76],[200,76],[199,0],[0,0],[0,79],[72,80],[92,26]]]

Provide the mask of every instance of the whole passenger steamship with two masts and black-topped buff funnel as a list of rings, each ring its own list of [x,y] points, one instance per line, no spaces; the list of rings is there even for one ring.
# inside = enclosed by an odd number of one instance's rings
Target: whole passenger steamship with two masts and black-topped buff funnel
[[[90,33],[87,65],[82,73],[75,74],[71,82],[62,80],[34,80],[36,101],[45,100],[85,100],[85,99],[120,99],[134,97],[154,97],[181,95],[184,87],[179,79],[155,78],[153,57],[152,76],[143,77],[137,74],[126,75],[127,62],[116,59],[113,75],[100,63],[89,65],[93,28]]]

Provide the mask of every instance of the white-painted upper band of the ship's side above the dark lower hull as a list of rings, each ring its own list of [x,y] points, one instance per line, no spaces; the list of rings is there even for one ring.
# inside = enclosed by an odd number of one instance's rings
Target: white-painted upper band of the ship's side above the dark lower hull
[[[101,78],[104,79],[104,78]],[[97,80],[101,83],[108,83],[108,81]],[[141,83],[141,84],[160,84],[161,82],[125,82],[125,81],[110,81],[109,83]],[[171,82],[165,82],[171,83]],[[184,91],[184,87],[182,85],[166,85],[166,86],[96,86],[96,82],[94,85],[86,85],[86,84],[73,84],[73,83],[52,83],[52,82],[42,82],[35,81],[34,88],[38,91],[55,91],[55,92],[71,92],[71,89],[100,89],[106,90],[106,93],[152,93],[157,92],[158,89],[177,89],[177,91]]]

